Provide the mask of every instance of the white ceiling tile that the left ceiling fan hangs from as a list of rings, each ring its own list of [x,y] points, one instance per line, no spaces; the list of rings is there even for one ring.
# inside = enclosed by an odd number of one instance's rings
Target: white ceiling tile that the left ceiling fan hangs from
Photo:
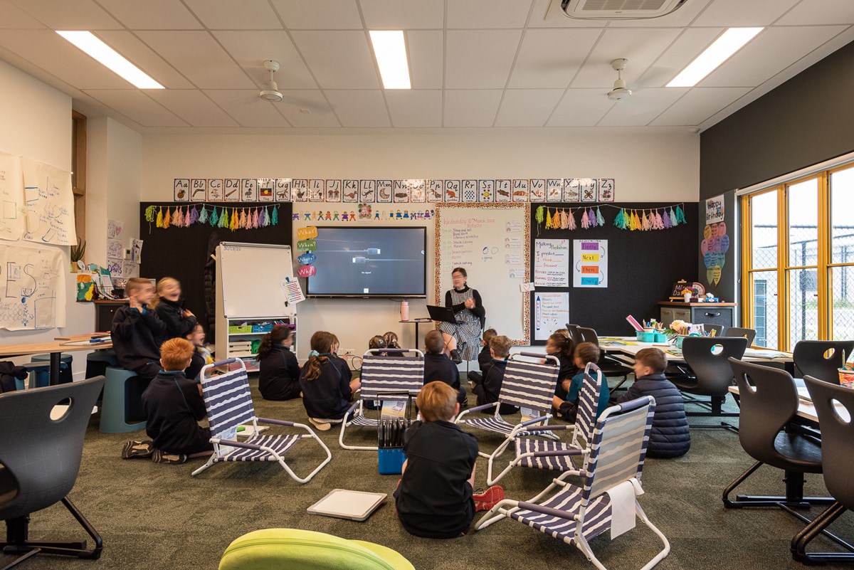
[[[278,61],[276,72],[279,89],[317,89],[306,64],[290,41],[288,32],[275,30],[254,32],[211,32],[240,67],[260,86],[269,79],[265,60]]]

